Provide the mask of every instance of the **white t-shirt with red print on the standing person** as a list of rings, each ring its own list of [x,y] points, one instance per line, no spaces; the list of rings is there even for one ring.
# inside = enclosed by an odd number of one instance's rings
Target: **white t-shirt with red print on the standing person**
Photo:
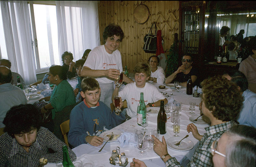
[[[104,45],[100,45],[92,49],[84,63],[84,66],[96,70],[119,69],[119,71],[123,71],[122,58],[119,50],[115,50],[112,54],[109,54]],[[101,83],[114,82],[106,76],[95,77],[95,79]]]

